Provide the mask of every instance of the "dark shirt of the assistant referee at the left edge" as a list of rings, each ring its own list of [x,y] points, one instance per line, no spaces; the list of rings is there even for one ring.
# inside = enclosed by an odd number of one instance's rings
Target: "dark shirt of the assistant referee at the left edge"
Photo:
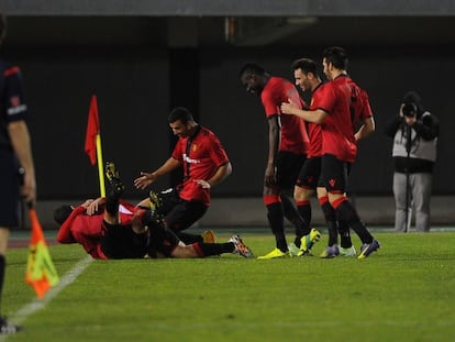
[[[10,122],[25,120],[27,108],[22,86],[22,75],[16,66],[0,59],[0,148],[11,150],[7,131]]]

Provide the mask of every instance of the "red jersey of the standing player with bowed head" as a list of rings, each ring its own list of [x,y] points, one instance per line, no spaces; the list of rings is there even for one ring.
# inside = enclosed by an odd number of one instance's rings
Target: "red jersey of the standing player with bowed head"
[[[281,119],[281,143],[279,151],[288,151],[295,154],[307,154],[309,139],[303,120],[295,115],[281,115],[282,102],[291,100],[300,109],[302,100],[296,87],[281,77],[270,77],[260,92],[260,100],[266,117],[280,115]]]

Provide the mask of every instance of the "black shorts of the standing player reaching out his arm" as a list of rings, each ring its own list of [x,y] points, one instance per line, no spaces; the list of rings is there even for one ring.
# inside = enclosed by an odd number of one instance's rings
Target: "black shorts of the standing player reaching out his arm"
[[[328,192],[344,194],[351,163],[337,159],[332,154],[324,154],[321,159],[321,177]]]

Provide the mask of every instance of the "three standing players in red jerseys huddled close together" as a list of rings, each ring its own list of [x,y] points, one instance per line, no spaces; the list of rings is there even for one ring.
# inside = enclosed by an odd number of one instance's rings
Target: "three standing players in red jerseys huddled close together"
[[[363,243],[359,258],[379,249],[379,242],[362,223],[346,197],[347,175],[356,157],[357,141],[375,130],[368,96],[348,77],[344,48],[325,48],[322,65],[326,82],[321,81],[313,60],[301,58],[292,64],[296,85],[312,92],[310,104],[300,99],[291,82],[270,76],[256,64],[244,65],[240,73],[246,91],[260,97],[269,123],[264,203],[276,247],[259,258],[310,253],[321,238],[320,232],[310,229],[309,198],[314,190],[329,230],[323,257],[357,255],[349,229]],[[358,130],[357,125],[360,125]],[[293,199],[289,195],[292,188]],[[296,227],[295,242],[289,245],[285,217]]]

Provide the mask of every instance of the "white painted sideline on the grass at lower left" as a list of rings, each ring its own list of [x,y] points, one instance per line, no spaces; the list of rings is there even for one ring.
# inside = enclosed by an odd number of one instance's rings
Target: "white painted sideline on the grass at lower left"
[[[87,268],[87,266],[93,261],[93,258],[88,255],[87,257],[79,261],[75,267],[68,271],[65,276],[60,279],[60,282],[55,286],[52,287],[43,299],[34,299],[33,301],[29,302],[27,305],[23,306],[19,309],[14,316],[11,317],[11,322],[14,324],[21,326],[29,316],[33,315],[34,312],[44,309],[46,305],[57,296],[65,287],[71,284],[76,278]],[[20,333],[20,332],[19,332]],[[0,341],[4,341],[8,335],[0,335]]]

